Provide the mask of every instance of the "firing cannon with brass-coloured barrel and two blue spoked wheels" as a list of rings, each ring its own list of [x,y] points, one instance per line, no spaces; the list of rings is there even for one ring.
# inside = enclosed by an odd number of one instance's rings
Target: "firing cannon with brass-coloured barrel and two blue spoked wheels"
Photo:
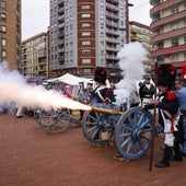
[[[152,143],[154,117],[139,106],[120,112],[112,105],[92,106],[83,115],[82,130],[93,143],[113,139],[121,156],[136,160],[143,156]]]

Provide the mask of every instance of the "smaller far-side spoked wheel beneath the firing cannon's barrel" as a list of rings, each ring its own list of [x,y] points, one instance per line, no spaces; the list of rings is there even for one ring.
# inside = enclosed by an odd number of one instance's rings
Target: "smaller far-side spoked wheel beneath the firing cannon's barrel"
[[[106,142],[113,137],[114,128],[103,123],[105,121],[105,117],[107,116],[96,112],[84,113],[82,130],[91,142]]]

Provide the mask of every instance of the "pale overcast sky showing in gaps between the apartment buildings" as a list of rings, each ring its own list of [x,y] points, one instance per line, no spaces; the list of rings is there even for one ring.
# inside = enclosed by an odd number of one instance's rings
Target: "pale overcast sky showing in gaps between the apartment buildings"
[[[129,0],[129,20],[149,25],[149,0]],[[49,0],[22,0],[22,39],[26,39],[49,26]]]

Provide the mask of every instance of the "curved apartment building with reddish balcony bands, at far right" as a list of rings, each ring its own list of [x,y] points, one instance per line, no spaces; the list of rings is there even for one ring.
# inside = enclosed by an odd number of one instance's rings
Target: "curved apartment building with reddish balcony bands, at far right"
[[[186,66],[186,1],[150,0],[150,25],[154,36],[151,55],[159,63]]]

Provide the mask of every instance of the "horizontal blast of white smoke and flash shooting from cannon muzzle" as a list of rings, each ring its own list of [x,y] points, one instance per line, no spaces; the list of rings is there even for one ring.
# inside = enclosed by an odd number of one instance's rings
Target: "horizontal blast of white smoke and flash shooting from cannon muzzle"
[[[19,71],[9,71],[7,62],[0,63],[0,105],[22,105],[43,109],[90,109],[89,106],[70,100],[56,90],[28,84]]]

